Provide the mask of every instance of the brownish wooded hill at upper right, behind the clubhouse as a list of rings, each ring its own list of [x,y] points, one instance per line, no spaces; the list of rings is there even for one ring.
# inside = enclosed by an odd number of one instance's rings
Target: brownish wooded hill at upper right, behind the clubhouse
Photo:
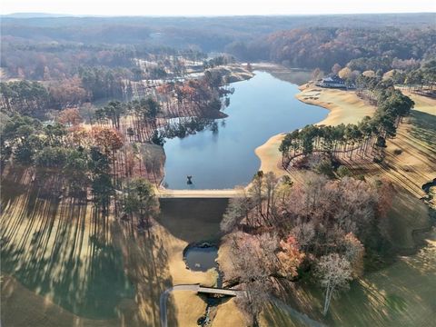
[[[329,71],[351,63],[354,70],[392,69],[399,60],[430,60],[436,55],[434,26],[415,28],[306,27],[235,42],[226,51],[241,60]]]

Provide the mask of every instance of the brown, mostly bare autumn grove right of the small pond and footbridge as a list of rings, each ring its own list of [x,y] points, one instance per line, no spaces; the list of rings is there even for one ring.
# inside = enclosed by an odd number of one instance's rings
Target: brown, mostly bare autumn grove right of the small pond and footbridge
[[[304,183],[292,185],[256,174],[248,192],[233,199],[223,217],[233,263],[224,269],[225,280],[250,290],[253,282],[295,281],[300,267],[314,272],[322,263],[327,310],[333,292],[362,276],[365,246],[375,248],[383,239],[380,225],[391,207],[391,191],[389,183],[351,177],[329,180],[306,173]]]

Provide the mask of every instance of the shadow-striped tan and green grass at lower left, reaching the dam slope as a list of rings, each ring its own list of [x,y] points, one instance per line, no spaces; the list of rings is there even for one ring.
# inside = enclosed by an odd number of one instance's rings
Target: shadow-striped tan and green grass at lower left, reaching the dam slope
[[[48,197],[25,171],[10,173],[2,186],[5,326],[157,326],[159,296],[166,288],[214,282],[213,271],[185,268],[183,249],[216,238],[225,203],[185,204],[190,210],[184,214],[183,203],[165,200],[150,233],[137,233],[95,213],[92,203]],[[171,213],[175,216],[165,216]],[[194,222],[193,214],[203,223]],[[203,300],[185,300],[175,295],[169,302],[172,325],[194,325],[205,307]]]

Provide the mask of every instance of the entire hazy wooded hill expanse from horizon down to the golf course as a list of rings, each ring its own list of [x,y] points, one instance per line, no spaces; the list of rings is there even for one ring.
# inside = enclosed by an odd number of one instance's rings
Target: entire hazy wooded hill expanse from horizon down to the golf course
[[[36,81],[70,78],[91,67],[120,77],[137,75],[137,58],[159,61],[182,51],[195,61],[224,52],[244,62],[326,72],[351,63],[353,70],[384,73],[436,57],[435,20],[436,14],[9,16],[0,22],[0,67],[10,78]]]

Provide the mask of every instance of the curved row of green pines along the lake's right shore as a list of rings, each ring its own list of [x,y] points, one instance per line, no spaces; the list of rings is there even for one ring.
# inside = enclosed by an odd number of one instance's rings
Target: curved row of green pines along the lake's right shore
[[[332,157],[346,154],[350,158],[359,155],[382,160],[386,139],[395,136],[402,118],[410,114],[414,103],[391,83],[381,80],[377,83],[375,77],[365,76],[358,80],[359,90],[362,87],[375,99],[375,114],[365,117],[359,124],[307,125],[286,134],[279,147],[284,168],[297,157],[317,152]]]

